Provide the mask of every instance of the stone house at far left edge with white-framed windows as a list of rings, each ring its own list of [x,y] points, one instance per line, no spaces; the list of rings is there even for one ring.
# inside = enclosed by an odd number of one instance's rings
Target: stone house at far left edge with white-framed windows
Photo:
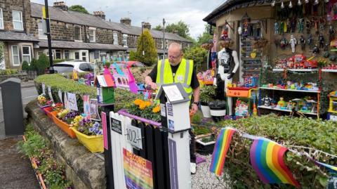
[[[0,69],[20,68],[34,57],[38,40],[32,34],[29,0],[0,0],[0,41],[4,43]]]

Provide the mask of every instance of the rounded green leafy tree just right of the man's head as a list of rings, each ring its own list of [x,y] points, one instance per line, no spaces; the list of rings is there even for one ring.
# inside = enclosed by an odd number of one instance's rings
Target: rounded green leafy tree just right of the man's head
[[[198,72],[198,70],[201,70],[202,65],[207,62],[207,51],[200,46],[187,48],[184,52],[184,58],[193,60]]]

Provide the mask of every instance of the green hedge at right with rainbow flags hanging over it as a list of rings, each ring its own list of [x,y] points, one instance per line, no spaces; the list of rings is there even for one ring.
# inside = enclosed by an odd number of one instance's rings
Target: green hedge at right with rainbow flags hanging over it
[[[220,126],[232,126],[246,133],[263,136],[285,145],[300,145],[337,154],[337,123],[321,119],[277,117],[265,115],[236,121],[226,120]],[[293,188],[291,185],[263,185],[249,161],[253,141],[235,133],[225,161],[225,170],[232,180],[232,188]],[[319,162],[336,165],[337,159],[321,155]],[[302,188],[324,188],[328,174],[308,158],[287,152],[285,162]]]

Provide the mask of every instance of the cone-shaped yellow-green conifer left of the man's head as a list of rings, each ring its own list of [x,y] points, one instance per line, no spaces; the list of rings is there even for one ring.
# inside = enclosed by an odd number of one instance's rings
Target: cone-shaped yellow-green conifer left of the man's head
[[[150,31],[147,29],[145,29],[143,34],[140,34],[140,37],[138,37],[135,58],[136,60],[149,66],[157,63],[157,49],[154,46],[154,40]]]

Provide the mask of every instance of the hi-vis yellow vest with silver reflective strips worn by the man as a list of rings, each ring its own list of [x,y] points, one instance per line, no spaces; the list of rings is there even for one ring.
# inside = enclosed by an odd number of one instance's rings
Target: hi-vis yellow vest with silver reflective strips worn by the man
[[[159,60],[157,65],[157,79],[156,84],[158,88],[162,84],[173,84],[173,83],[181,83],[190,97],[192,98],[192,72],[193,72],[193,60],[186,60],[183,58],[180,62],[178,70],[176,71],[176,75],[173,78],[173,73],[171,70],[171,65],[169,63],[169,59]]]

